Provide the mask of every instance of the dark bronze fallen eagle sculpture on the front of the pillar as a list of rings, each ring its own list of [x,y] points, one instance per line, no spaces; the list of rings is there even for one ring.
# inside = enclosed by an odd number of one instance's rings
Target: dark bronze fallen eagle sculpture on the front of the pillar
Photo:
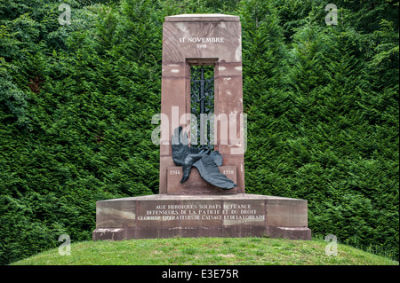
[[[234,181],[220,173],[222,155],[218,151],[207,148],[194,148],[188,146],[188,133],[181,135],[182,127],[174,130],[172,135],[172,159],[176,165],[182,166],[183,177],[180,183],[188,180],[192,167],[196,167],[200,176],[211,185],[225,190],[236,187]],[[183,143],[182,143],[183,142]]]

